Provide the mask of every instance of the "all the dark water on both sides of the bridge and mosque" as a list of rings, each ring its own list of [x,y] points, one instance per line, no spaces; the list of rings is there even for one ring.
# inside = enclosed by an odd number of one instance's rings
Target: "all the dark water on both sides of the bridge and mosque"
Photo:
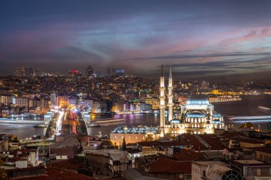
[[[249,96],[244,97],[244,100],[237,102],[220,102],[214,103],[215,111],[222,114],[224,117],[227,116],[261,116],[271,115],[271,112],[262,112],[257,107],[271,107],[271,96]],[[123,122],[115,122],[111,124],[101,125],[101,127],[88,127],[91,135],[109,135],[109,133],[118,127],[118,125],[148,125],[158,126],[160,124],[159,115],[151,114],[136,114],[136,115],[114,115],[114,116],[102,116],[102,117],[91,117],[92,120],[106,119],[106,118],[124,118]],[[234,122],[231,125],[234,127],[240,127],[243,122]],[[227,125],[228,122],[225,122]],[[262,130],[266,129],[267,122],[252,122],[255,128]],[[33,137],[34,134],[44,134],[44,128],[34,128],[33,126],[27,125],[0,125],[0,133],[4,134],[18,134],[19,138]]]

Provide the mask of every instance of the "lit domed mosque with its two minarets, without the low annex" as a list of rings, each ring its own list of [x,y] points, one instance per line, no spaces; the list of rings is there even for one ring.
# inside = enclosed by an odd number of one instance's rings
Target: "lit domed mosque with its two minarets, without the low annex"
[[[165,122],[165,77],[163,65],[160,77],[160,137],[183,133],[214,134],[224,129],[223,116],[203,96],[190,97],[180,112],[173,117],[173,79],[170,68],[168,78],[168,121]]]

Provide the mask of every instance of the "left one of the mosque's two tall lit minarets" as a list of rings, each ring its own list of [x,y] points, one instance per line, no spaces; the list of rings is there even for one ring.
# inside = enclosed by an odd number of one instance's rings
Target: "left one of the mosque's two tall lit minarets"
[[[161,66],[160,77],[160,137],[165,136],[165,77],[163,73],[163,64]]]

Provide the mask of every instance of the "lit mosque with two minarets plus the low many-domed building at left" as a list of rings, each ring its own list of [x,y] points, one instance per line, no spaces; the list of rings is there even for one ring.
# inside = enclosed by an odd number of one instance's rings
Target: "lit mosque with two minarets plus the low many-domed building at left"
[[[166,101],[168,103],[166,103]],[[165,107],[168,107],[168,120],[165,120]],[[214,106],[206,97],[190,97],[180,111],[173,115],[173,78],[170,68],[168,93],[165,92],[163,65],[160,77],[160,127],[126,127],[113,130],[110,139],[120,146],[125,138],[128,143],[136,143],[147,139],[157,140],[178,134],[221,134],[224,131],[223,116],[215,112]]]

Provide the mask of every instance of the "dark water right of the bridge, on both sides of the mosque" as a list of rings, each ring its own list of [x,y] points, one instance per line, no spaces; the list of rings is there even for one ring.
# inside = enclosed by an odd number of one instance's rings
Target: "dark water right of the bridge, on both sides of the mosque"
[[[242,101],[235,102],[219,102],[213,103],[215,111],[219,112],[224,117],[228,116],[262,116],[271,115],[271,112],[262,112],[257,107],[269,107],[271,108],[271,95],[259,95],[259,96],[246,96],[242,97]],[[113,129],[118,125],[160,125],[160,115],[116,115],[112,116],[116,119],[124,118],[123,122],[116,122],[108,125],[101,125],[101,127],[88,127],[88,131],[91,135],[109,135]],[[105,117],[92,117],[92,120],[103,119]],[[109,118],[109,117],[106,117]],[[110,117],[111,118],[111,117]],[[271,122],[271,120],[270,120]],[[225,118],[225,125],[233,125],[233,127],[240,127],[244,122],[228,122]],[[261,130],[266,130],[267,122],[252,122],[254,128],[258,128],[260,125]]]

